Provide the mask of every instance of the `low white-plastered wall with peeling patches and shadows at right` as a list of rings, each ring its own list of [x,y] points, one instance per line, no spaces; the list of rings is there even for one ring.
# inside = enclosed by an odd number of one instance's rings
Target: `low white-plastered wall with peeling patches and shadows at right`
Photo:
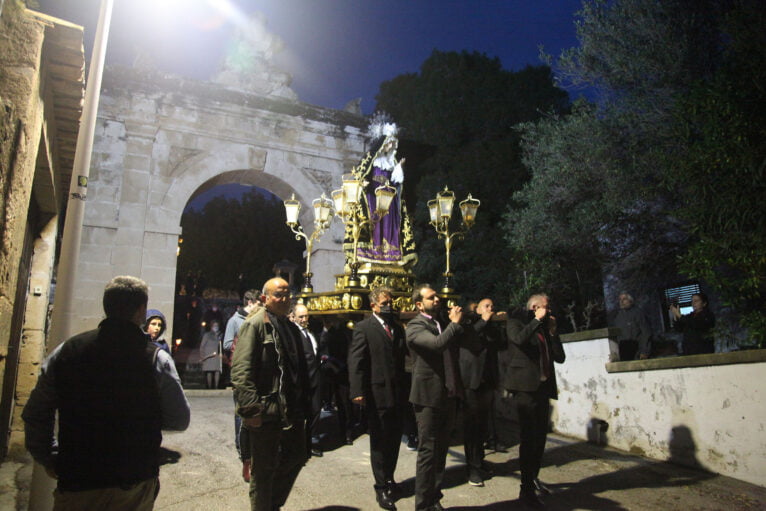
[[[766,350],[608,363],[607,329],[562,340],[557,432],[766,486]]]

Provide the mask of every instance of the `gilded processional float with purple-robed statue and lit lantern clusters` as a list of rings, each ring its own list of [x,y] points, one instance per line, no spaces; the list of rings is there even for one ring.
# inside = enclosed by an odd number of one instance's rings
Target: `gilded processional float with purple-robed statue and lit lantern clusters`
[[[342,177],[341,188],[313,201],[314,230],[307,235],[299,223],[301,203],[293,195],[284,201],[287,225],[306,243],[304,285],[297,297],[311,315],[337,315],[355,318],[370,312],[369,292],[379,286],[392,290],[394,307],[400,314],[414,313],[412,291],[417,262],[412,223],[403,197],[404,159],[396,158],[397,128],[392,123],[374,124],[370,135],[377,149],[368,152],[351,172]],[[480,201],[468,195],[459,203],[461,225],[451,228],[455,194],[446,186],[428,202],[430,224],[444,239],[446,265],[440,294],[448,305],[459,295],[452,287],[450,251],[453,240],[461,239],[473,226]],[[335,275],[331,291],[315,292],[311,283],[313,244],[330,227],[333,218],[344,225],[343,273]]]

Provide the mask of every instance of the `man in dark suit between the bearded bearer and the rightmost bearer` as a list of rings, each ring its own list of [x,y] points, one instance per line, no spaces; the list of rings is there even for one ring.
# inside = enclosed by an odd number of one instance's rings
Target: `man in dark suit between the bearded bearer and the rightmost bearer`
[[[472,321],[468,328],[479,336],[483,346],[475,351],[460,348],[460,377],[465,390],[463,445],[468,484],[484,486],[484,480],[492,476],[484,466],[484,442],[498,382],[497,350],[504,347],[505,337],[501,323],[492,321],[495,309],[490,298],[482,299],[476,311],[468,315]]]

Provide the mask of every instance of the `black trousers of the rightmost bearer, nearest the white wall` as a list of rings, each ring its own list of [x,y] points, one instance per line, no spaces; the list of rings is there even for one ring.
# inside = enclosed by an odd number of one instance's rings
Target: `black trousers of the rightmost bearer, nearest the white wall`
[[[543,382],[534,392],[515,392],[513,405],[519,413],[521,444],[519,461],[521,465],[521,490],[534,490],[534,480],[540,473],[540,465],[548,437],[548,416],[550,414],[550,391]]]

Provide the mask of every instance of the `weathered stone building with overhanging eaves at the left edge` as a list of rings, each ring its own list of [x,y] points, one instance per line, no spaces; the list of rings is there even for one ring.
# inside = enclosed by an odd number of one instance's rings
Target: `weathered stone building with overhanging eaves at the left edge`
[[[20,2],[5,3],[0,24],[0,416],[8,418],[0,431],[9,428],[9,454],[15,457],[24,453],[20,413],[47,351],[58,185],[62,174],[71,173],[71,163],[63,169],[61,161],[74,152],[84,58],[81,27]],[[24,255],[28,226],[32,251]],[[20,268],[29,271],[28,293]],[[12,332],[14,315],[21,330]]]

